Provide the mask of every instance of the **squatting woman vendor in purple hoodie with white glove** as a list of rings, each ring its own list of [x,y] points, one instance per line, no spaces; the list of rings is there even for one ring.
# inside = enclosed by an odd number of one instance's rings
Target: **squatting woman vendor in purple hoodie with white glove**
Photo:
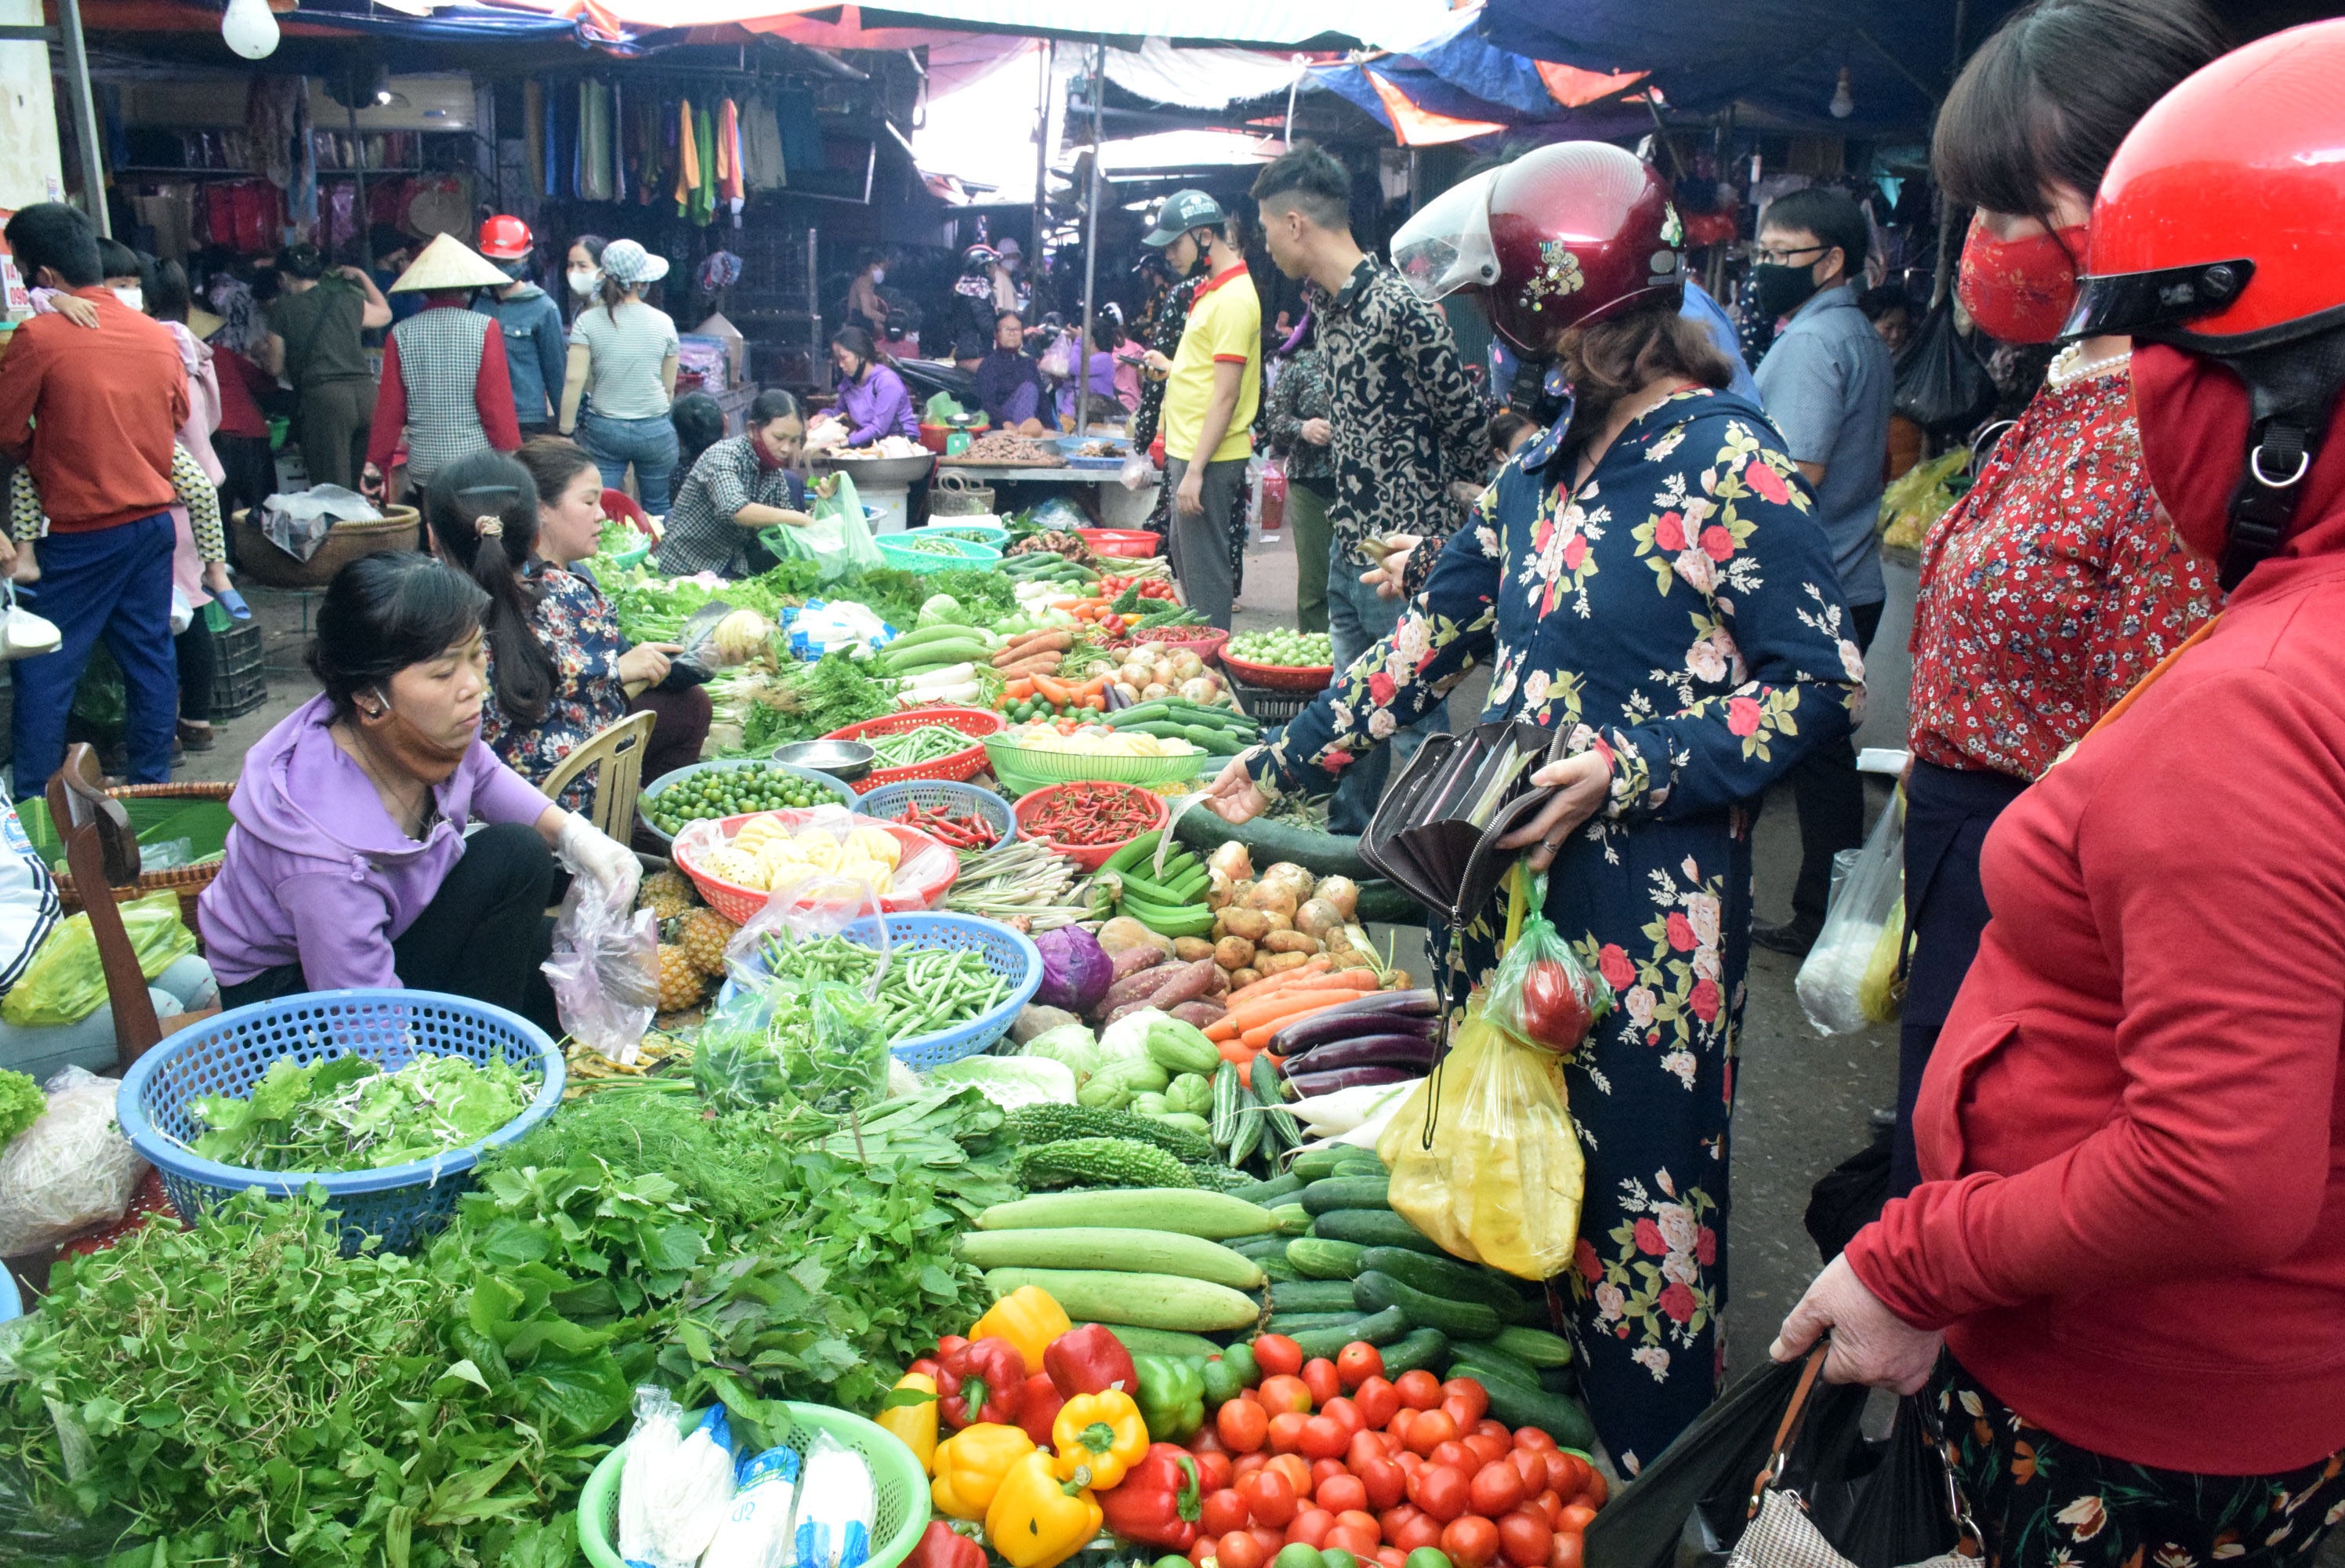
[[[338,570],[310,671],[326,688],[246,756],[199,915],[220,1000],[410,986],[553,1033],[553,850],[614,901],[635,857],[481,742],[488,594],[408,552]],[[474,817],[485,829],[467,836]]]

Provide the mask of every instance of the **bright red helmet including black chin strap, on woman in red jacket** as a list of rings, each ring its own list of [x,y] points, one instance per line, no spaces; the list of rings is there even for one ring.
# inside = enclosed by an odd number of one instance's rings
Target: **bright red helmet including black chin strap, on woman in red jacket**
[[[2286,535],[2345,390],[2345,21],[2232,49],[2150,106],[2108,162],[2064,336],[2218,359],[2254,423],[2221,582]]]

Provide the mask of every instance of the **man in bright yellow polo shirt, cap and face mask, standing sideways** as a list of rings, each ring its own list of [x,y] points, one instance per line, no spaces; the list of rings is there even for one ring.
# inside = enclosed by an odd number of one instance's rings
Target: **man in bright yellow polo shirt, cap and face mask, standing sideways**
[[[1255,408],[1262,404],[1262,300],[1224,232],[1229,216],[1203,190],[1177,190],[1156,211],[1144,244],[1165,254],[1175,275],[1205,265],[1189,305],[1180,352],[1149,354],[1165,376],[1165,484],[1172,486],[1172,575],[1189,606],[1229,629],[1233,596],[1229,519],[1255,455]]]

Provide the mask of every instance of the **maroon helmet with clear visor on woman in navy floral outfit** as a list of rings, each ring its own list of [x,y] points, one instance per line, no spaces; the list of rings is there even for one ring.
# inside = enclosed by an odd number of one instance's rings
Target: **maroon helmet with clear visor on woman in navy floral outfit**
[[[1559,141],[1466,181],[1393,235],[1393,265],[1428,298],[1477,289],[1491,329],[1548,357],[1566,326],[1686,298],[1684,225],[1634,153]]]

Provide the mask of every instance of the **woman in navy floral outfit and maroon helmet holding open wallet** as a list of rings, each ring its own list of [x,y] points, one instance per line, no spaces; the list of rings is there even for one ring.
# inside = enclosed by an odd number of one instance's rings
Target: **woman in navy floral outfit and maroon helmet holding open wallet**
[[[1534,775],[1555,798],[1501,843],[1552,861],[1548,918],[1620,1000],[1569,1063],[1588,1155],[1569,1282],[1590,1415],[1634,1474],[1710,1406],[1721,1364],[1745,803],[1848,732],[1862,664],[1806,481],[1679,317],[1660,176],[1550,146],[1426,228],[1456,258],[1433,286],[1484,289],[1491,326],[1557,357],[1576,408],[1508,462],[1393,636],[1233,758],[1212,803],[1245,822],[1330,793],[1484,660],[1484,721],[1564,732],[1566,761]],[[1407,230],[1393,249],[1405,270],[1421,256]],[[1466,913],[1454,998],[1487,979],[1498,930],[1496,908]]]

